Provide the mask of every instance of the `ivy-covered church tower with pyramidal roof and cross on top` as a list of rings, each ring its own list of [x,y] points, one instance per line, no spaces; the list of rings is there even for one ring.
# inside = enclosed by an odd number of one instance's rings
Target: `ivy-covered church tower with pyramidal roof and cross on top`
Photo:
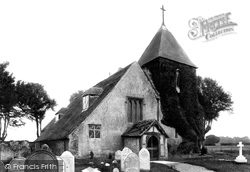
[[[200,130],[196,69],[163,22],[138,63],[160,94],[163,124],[176,129],[182,138],[197,141]]]

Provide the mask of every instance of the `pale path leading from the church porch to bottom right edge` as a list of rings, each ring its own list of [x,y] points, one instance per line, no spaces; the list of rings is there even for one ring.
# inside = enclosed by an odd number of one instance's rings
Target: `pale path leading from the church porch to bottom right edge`
[[[160,164],[167,165],[169,167],[173,167],[175,170],[180,171],[180,172],[214,172],[204,167],[190,165],[186,163],[171,162],[171,161],[151,161],[151,162],[160,163]]]

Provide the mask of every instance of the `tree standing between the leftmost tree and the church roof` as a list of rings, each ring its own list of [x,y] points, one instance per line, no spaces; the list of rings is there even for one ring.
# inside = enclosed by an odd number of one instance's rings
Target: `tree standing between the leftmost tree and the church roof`
[[[37,137],[39,137],[45,112],[48,109],[53,110],[56,101],[48,96],[40,84],[18,81],[16,87],[19,107],[28,119],[36,122]]]

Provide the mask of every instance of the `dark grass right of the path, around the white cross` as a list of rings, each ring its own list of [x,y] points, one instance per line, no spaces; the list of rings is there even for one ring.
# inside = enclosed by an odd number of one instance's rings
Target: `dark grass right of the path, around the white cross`
[[[238,151],[211,152],[213,158],[191,158],[183,160],[183,162],[202,166],[216,172],[250,172],[250,155],[248,153],[249,151],[243,152],[243,155],[248,160],[247,164],[234,162],[235,158],[238,156]]]

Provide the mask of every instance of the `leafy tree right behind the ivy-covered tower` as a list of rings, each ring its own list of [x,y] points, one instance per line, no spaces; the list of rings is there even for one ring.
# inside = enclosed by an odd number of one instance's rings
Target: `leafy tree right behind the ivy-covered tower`
[[[197,77],[198,99],[204,111],[204,135],[211,130],[213,120],[219,117],[220,112],[232,112],[233,101],[231,94],[225,92],[217,81],[211,78]]]

